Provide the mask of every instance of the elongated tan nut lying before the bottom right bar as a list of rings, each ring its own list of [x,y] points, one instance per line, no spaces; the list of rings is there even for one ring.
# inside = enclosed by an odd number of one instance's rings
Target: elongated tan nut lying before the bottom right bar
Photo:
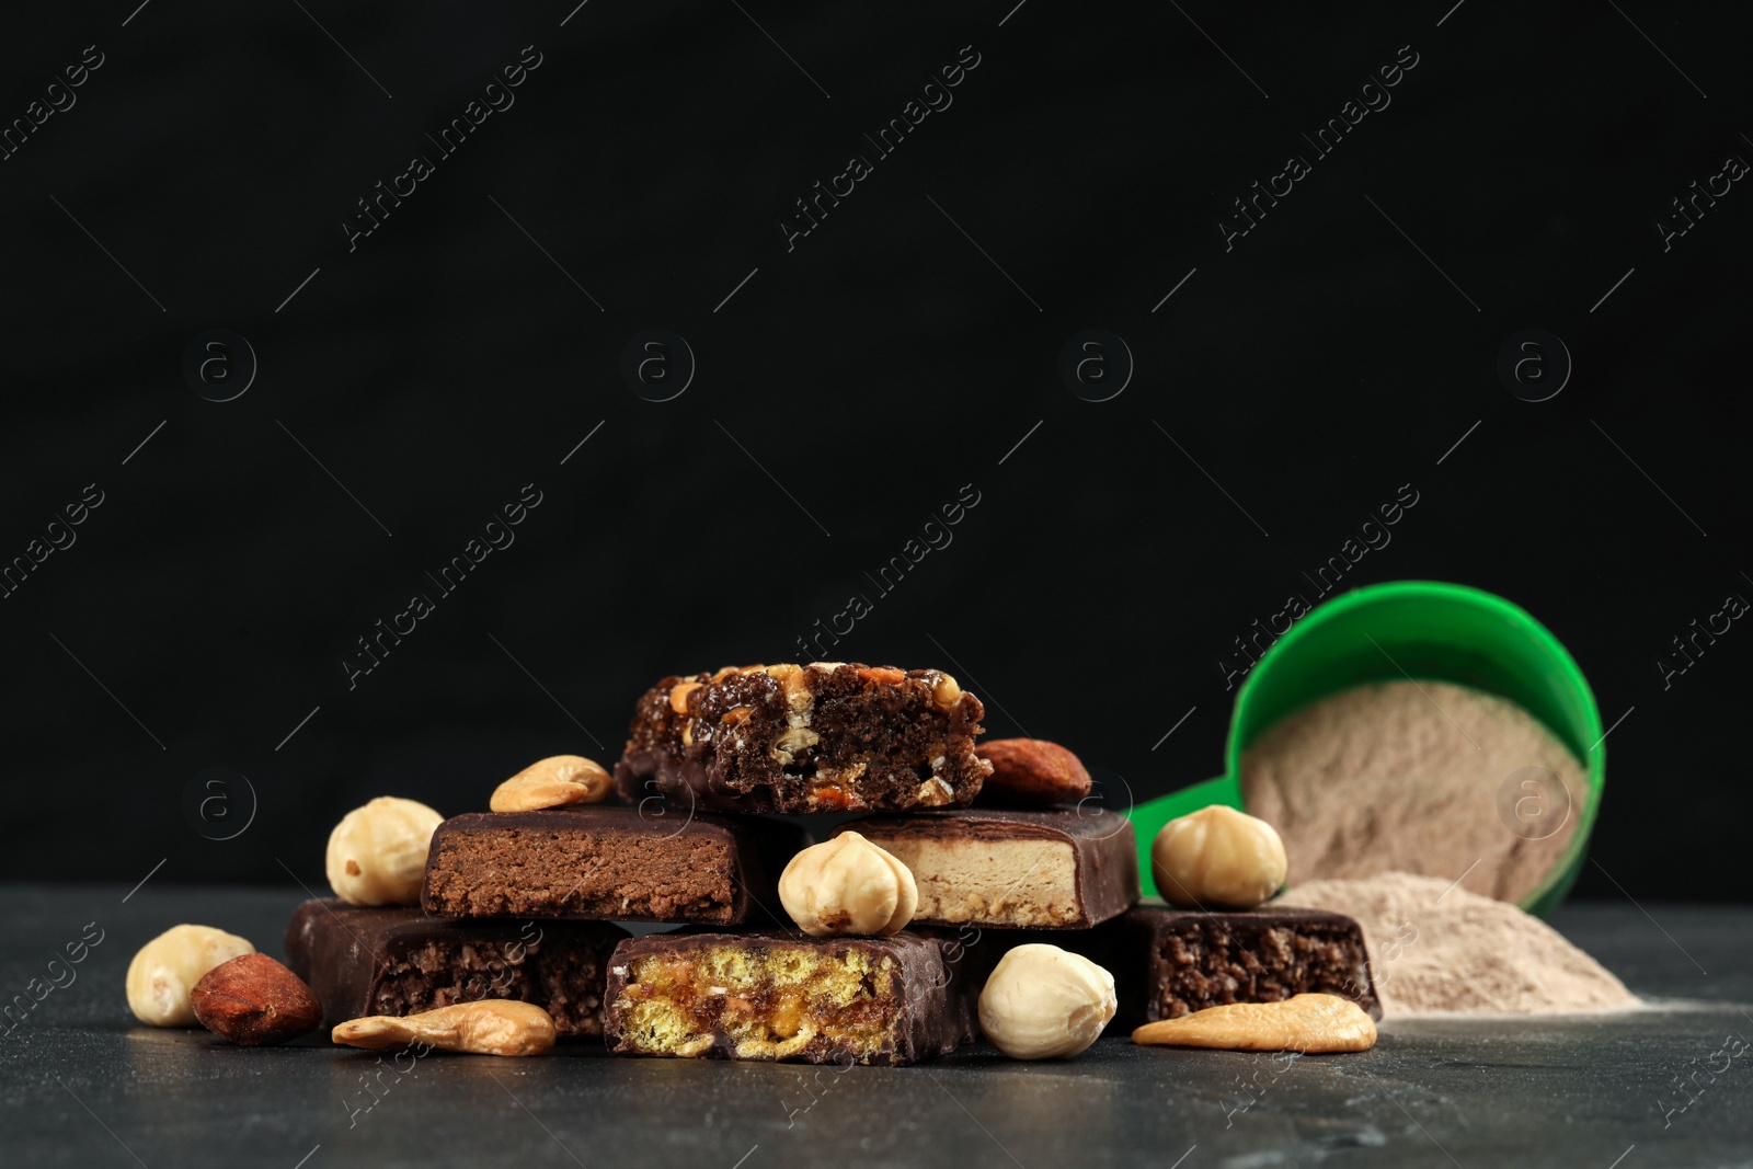
[[[1281,1003],[1229,1003],[1145,1024],[1132,1043],[1227,1052],[1367,1052],[1376,1024],[1336,994],[1295,994]]]

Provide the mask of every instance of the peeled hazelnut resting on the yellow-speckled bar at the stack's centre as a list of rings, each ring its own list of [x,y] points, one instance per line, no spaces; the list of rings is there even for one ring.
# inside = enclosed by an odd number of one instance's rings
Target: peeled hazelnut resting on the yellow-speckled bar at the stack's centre
[[[919,908],[913,873],[857,832],[812,845],[778,878],[778,899],[812,938],[894,934]]]

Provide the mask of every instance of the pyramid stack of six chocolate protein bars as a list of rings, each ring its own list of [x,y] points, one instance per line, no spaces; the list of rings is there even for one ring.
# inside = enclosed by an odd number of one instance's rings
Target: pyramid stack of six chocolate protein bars
[[[908,1064],[976,1036],[985,973],[1022,941],[1106,966],[1117,1027],[1327,990],[1374,1013],[1336,915],[1138,906],[1124,808],[1071,752],[976,750],[983,708],[934,670],[843,662],[670,677],[638,701],[624,803],[458,815],[421,906],[312,901],[286,938],[324,1025],[521,999],[624,1055]],[[917,883],[889,936],[810,936],[778,897],[810,843],[770,813],[869,813]],[[615,922],[682,929],[629,936]]]

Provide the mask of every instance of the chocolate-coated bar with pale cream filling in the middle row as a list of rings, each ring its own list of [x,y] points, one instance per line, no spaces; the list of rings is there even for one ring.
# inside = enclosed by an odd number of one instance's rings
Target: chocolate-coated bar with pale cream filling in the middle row
[[[1132,822],[1113,811],[969,808],[847,829],[913,871],[920,925],[1089,929],[1138,901]]]

